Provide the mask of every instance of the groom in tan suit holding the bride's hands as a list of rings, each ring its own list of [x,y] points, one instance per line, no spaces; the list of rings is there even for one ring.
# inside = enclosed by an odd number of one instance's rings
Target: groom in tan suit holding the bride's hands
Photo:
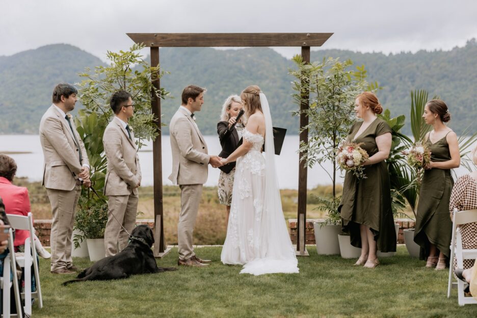
[[[177,225],[179,265],[204,267],[210,260],[200,259],[194,253],[192,234],[207,180],[207,165],[221,166],[220,157],[207,154],[207,145],[194,121],[204,103],[205,89],[189,85],[182,91],[182,104],[169,126],[172,148],[172,173],[169,180],[179,184],[180,215]]]

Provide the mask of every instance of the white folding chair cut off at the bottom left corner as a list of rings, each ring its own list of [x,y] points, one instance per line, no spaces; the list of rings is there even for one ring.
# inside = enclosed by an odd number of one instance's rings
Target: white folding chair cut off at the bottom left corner
[[[21,298],[20,298],[20,288],[18,286],[17,271],[16,271],[16,259],[15,252],[13,248],[13,231],[9,230],[9,240],[8,240],[8,249],[10,253],[4,259],[4,270],[2,277],[2,302],[3,302],[3,311],[2,317],[18,317],[22,318],[21,314]],[[10,271],[11,269],[11,271]],[[10,287],[12,282],[10,281],[10,272],[13,276],[13,293],[15,294],[15,304],[17,308],[17,314],[10,314]]]

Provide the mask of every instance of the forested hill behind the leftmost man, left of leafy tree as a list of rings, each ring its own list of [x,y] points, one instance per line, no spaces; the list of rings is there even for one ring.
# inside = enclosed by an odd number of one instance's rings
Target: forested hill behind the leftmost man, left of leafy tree
[[[78,82],[78,72],[101,63],[88,52],[65,44],[0,57],[0,134],[38,134],[55,85]]]

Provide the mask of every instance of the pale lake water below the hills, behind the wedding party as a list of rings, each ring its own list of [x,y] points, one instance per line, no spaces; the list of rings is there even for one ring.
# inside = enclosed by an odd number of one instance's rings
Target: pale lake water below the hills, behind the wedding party
[[[221,147],[217,136],[204,136],[210,154],[219,154]],[[299,136],[286,136],[283,148],[276,158],[278,182],[280,189],[298,189],[298,144]],[[169,136],[162,137],[163,151],[163,184],[172,185],[167,178],[172,170],[172,154]],[[152,143],[143,146],[139,152],[141,162],[143,186],[152,186]],[[43,172],[43,152],[41,150],[40,138],[38,135],[0,135],[0,153],[2,151],[27,151],[31,153],[10,154],[18,166],[17,176],[28,177],[31,181],[41,181]],[[324,165],[331,173],[331,165]],[[461,166],[456,174],[462,175],[467,170]],[[208,178],[206,186],[217,186],[219,179],[219,169],[208,166]],[[338,172],[339,175],[339,172]],[[342,178],[338,178],[342,182]],[[318,165],[308,169],[308,189],[316,187],[318,184],[330,184],[328,174]]]

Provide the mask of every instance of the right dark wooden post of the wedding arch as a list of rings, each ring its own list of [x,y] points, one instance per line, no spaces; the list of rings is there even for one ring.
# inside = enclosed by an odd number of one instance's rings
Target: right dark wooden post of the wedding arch
[[[310,47],[302,46],[301,55],[303,62],[310,63]],[[307,81],[307,80],[303,80]],[[306,83],[306,82],[305,82]],[[302,85],[304,82],[302,82]],[[300,104],[300,144],[308,143],[308,129],[304,129],[308,125],[308,116],[305,112],[309,107],[309,91],[300,92],[302,102]],[[308,252],[305,248],[306,245],[306,186],[308,169],[305,162],[302,161],[302,157],[306,156],[306,152],[300,152],[300,161],[298,168],[298,224],[297,224],[297,255],[308,256]]]

